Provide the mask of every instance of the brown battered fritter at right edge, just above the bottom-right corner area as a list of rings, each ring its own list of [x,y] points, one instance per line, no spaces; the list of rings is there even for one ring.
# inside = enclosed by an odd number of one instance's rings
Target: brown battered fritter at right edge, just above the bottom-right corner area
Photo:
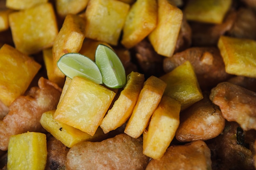
[[[220,107],[229,122],[235,121],[243,130],[256,130],[256,93],[228,82],[211,90],[210,100]]]

